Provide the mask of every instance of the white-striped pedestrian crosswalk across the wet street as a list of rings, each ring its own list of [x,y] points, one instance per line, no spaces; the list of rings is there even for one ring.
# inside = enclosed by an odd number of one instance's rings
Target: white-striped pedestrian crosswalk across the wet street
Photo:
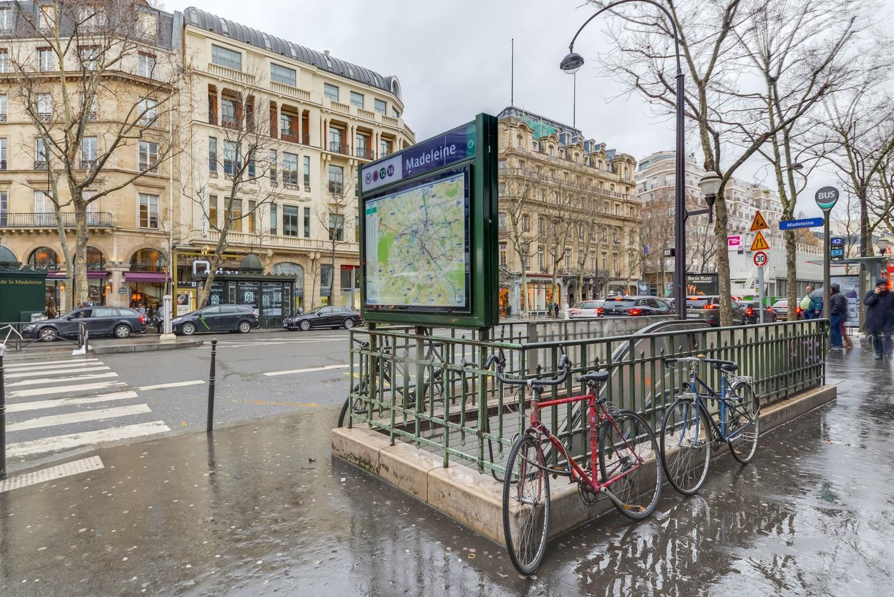
[[[171,431],[92,356],[7,362],[6,454],[30,457]]]

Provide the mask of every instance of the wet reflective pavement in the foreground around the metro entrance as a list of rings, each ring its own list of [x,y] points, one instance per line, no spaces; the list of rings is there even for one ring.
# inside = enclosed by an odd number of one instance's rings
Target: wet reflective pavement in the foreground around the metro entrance
[[[724,456],[658,516],[502,548],[329,456],[335,412],[98,451],[105,469],[0,494],[2,595],[884,595],[894,584],[891,363],[831,355],[831,405]]]

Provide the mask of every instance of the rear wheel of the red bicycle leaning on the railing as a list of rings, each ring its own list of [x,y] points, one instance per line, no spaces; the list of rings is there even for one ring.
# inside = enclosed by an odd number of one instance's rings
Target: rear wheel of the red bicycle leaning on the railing
[[[633,520],[652,514],[662,495],[662,466],[658,441],[648,423],[633,411],[620,411],[599,430],[599,470],[603,482],[618,475],[611,493],[612,503]]]

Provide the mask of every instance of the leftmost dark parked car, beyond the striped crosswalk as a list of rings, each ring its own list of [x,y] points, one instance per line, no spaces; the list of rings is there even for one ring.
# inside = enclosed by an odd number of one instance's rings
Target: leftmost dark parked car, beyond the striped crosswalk
[[[35,321],[21,328],[22,337],[40,338],[46,342],[56,337],[78,337],[83,322],[89,337],[114,336],[126,338],[133,332],[146,331],[146,317],[128,307],[82,307],[54,320]]]

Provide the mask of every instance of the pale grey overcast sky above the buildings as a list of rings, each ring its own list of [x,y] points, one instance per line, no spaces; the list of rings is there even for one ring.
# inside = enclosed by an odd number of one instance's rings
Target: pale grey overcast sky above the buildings
[[[882,0],[894,13],[894,0]],[[210,13],[289,39],[401,80],[404,119],[421,141],[510,105],[510,38],[515,38],[515,105],[571,124],[572,77],[559,70],[574,31],[594,10],[580,0],[164,0],[168,11],[196,5]],[[637,96],[598,72],[609,48],[594,22],[575,49],[589,59],[578,72],[577,126],[586,138],[637,159],[673,149],[673,123],[656,119]],[[687,140],[693,147],[694,140]],[[739,178],[770,182],[755,161]],[[835,183],[812,177],[799,209],[818,213],[813,192]],[[843,201],[842,197],[842,201]]]

